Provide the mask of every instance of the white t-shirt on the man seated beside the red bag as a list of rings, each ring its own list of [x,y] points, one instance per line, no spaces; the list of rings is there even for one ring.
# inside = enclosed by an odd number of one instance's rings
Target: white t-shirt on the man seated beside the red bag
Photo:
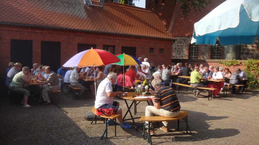
[[[98,86],[94,107],[97,109],[104,104],[113,105],[113,97],[108,97],[107,93],[112,92],[111,81],[105,78]]]

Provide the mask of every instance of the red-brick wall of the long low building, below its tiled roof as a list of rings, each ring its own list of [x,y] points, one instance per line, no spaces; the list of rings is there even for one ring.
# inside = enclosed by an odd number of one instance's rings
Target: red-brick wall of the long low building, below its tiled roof
[[[136,57],[148,58],[148,62],[155,64],[171,64],[172,40],[122,36],[116,34],[102,34],[80,32],[72,30],[58,30],[49,28],[33,28],[25,26],[0,25],[0,74],[4,74],[10,60],[10,40],[33,40],[33,63],[41,64],[41,41],[61,42],[61,64],[77,54],[77,44],[96,44],[97,49],[103,45],[115,46],[115,54],[121,54],[122,46],[136,47]],[[154,54],[149,48],[155,48]],[[159,48],[164,49],[159,54]],[[44,64],[51,65],[51,64]],[[32,67],[32,66],[29,66]]]

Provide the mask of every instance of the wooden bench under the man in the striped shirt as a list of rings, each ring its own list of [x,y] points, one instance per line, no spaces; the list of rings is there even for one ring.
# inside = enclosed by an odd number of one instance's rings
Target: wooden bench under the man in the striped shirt
[[[192,135],[190,127],[188,126],[188,114],[189,114],[189,112],[187,112],[187,111],[180,111],[180,115],[177,117],[173,117],[173,118],[168,118],[168,117],[163,117],[163,116],[141,116],[140,121],[144,121],[143,132],[145,132],[145,126],[148,125],[148,128],[150,128],[151,122],[160,122],[160,121],[169,122],[169,121],[177,120],[177,131],[179,131],[180,119],[182,119],[183,121],[181,121],[181,122],[186,123],[186,134],[188,134],[188,130],[189,130],[190,134]],[[146,124],[145,121],[147,121],[148,124]],[[145,135],[144,135],[143,139],[145,139]],[[148,143],[150,143],[152,145],[150,130],[148,130]]]

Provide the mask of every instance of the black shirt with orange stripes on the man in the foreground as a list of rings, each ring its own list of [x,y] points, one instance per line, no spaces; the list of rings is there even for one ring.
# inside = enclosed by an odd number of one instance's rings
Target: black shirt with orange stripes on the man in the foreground
[[[175,91],[171,87],[162,85],[155,91],[155,102],[167,111],[176,111],[181,108]]]

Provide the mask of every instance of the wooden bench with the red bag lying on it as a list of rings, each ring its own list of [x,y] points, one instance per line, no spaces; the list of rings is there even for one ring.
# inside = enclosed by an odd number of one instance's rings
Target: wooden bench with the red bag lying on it
[[[92,120],[91,124],[94,122],[95,120],[95,124],[96,124],[96,121],[97,121],[97,118],[96,118],[96,110],[94,107],[92,109],[92,112],[95,114],[95,117],[94,119]],[[103,117],[105,118],[105,130],[104,132],[102,133],[102,137],[100,138],[101,140],[103,139],[104,135],[106,134],[106,138],[107,138],[107,134],[108,134],[108,125],[107,125],[107,121],[108,119],[111,119],[109,121],[113,121],[115,124],[116,124],[116,118],[119,117],[119,114],[115,114],[115,115],[111,115],[111,116],[103,116],[103,115],[100,115],[100,117]],[[114,120],[113,120],[114,119]],[[116,136],[116,125],[115,125],[115,136]]]

